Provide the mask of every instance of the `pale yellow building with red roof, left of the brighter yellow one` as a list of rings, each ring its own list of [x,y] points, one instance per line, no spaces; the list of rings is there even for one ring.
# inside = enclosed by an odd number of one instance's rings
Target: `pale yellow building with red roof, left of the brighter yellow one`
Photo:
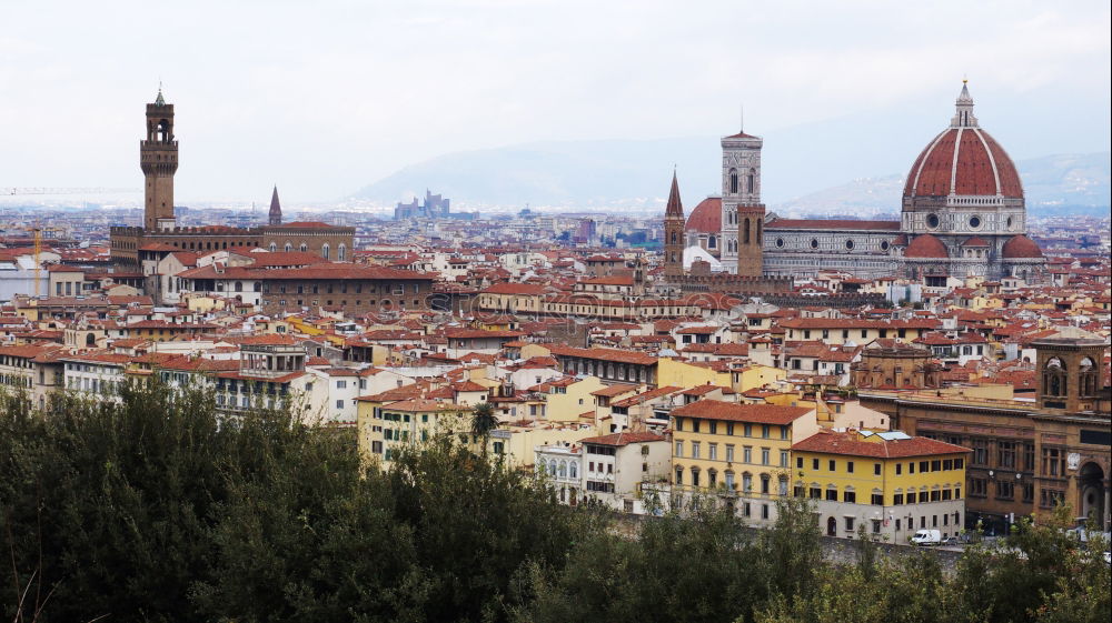
[[[813,409],[701,400],[672,411],[673,492],[718,492],[755,524],[790,495],[792,443],[818,431]]]

